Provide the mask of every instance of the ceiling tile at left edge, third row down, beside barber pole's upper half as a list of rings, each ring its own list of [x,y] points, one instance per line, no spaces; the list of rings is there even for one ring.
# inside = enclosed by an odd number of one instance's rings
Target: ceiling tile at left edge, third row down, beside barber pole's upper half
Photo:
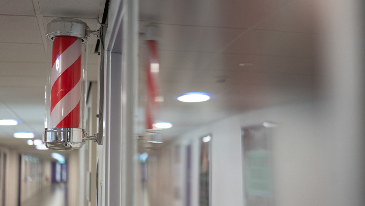
[[[46,62],[43,44],[0,43],[0,62]]]

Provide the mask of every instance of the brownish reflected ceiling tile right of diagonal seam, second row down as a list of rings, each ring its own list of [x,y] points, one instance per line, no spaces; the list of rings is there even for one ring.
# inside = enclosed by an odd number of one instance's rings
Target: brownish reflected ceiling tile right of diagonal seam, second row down
[[[309,33],[251,30],[223,53],[313,57],[315,35]]]

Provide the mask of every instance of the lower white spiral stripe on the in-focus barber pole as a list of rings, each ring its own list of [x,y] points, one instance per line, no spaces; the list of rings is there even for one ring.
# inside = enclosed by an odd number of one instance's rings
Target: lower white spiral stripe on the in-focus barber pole
[[[62,97],[51,112],[51,128],[55,128],[78,104],[81,99],[81,79]]]

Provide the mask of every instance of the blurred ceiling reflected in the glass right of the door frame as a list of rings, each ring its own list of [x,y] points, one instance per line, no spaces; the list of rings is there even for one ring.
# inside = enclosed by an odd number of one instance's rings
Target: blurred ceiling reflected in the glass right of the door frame
[[[315,95],[315,12],[311,0],[141,0],[140,32],[161,32],[157,121],[165,139],[220,118]],[[145,65],[140,38],[140,68]],[[250,62],[251,66],[239,66]],[[225,80],[225,81],[224,81]],[[144,78],[140,78],[143,85]],[[224,81],[224,82],[222,82]],[[206,102],[178,94],[207,92]]]

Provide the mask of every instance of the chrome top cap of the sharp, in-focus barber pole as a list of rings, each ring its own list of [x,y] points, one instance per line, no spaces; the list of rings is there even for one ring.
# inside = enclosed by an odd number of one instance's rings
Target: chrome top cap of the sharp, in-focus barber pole
[[[47,39],[53,41],[55,36],[74,36],[86,43],[89,40],[89,27],[84,21],[59,17],[47,24]]]

